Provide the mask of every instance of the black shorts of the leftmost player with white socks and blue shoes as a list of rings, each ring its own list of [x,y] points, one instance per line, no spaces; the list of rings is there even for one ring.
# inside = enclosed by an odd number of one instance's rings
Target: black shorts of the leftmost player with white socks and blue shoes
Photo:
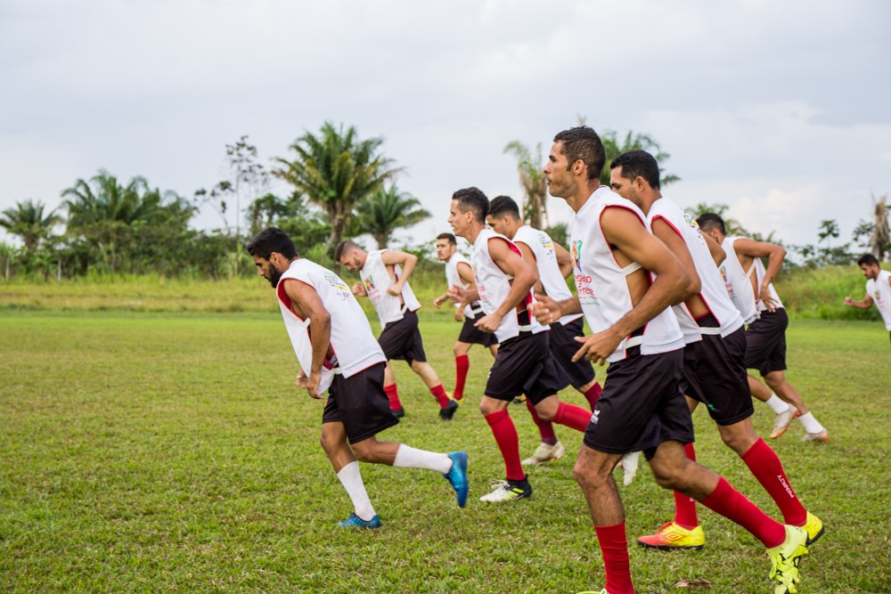
[[[328,389],[322,422],[343,423],[349,443],[361,442],[399,422],[384,392],[384,366],[376,363],[348,378],[336,375]]]

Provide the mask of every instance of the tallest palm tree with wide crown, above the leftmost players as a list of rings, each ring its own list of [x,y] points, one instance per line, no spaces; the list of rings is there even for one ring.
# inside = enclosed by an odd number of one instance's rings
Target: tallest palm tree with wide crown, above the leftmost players
[[[360,140],[354,126],[344,131],[342,124],[336,128],[325,122],[318,135],[307,132],[290,145],[297,159],[275,159],[281,167],[273,175],[293,185],[328,216],[330,251],[340,242],[356,205],[401,171],[379,153],[383,142],[383,138]]]

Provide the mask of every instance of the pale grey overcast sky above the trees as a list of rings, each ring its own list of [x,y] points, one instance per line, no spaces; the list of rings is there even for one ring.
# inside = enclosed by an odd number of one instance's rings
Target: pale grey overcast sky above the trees
[[[0,210],[100,169],[191,198],[241,135],[268,164],[330,120],[386,138],[433,214],[420,242],[457,188],[521,199],[504,145],[546,155],[582,115],[655,138],[683,207],[846,241],[891,192],[889,64],[886,0],[3,0]]]

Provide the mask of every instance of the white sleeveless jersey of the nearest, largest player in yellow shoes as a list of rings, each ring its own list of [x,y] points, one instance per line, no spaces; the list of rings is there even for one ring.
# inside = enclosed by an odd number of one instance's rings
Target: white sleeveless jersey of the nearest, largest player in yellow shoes
[[[646,217],[633,202],[601,186],[584,203],[569,224],[569,255],[576,277],[576,293],[584,319],[593,332],[609,329],[634,305],[625,277],[640,264],[619,266],[601,231],[601,214],[606,207],[627,208],[646,226]],[[609,362],[625,359],[631,346],[641,346],[641,354],[667,353],[683,348],[683,334],[669,308],[647,322],[640,336],[629,336],[607,357]]]

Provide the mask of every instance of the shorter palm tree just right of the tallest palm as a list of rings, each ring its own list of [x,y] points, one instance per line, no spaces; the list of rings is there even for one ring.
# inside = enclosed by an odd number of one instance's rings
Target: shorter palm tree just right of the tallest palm
[[[386,248],[390,235],[400,227],[411,227],[426,218],[428,211],[411,194],[399,191],[396,184],[381,188],[356,205],[356,224],[360,233],[370,233],[378,248]]]

